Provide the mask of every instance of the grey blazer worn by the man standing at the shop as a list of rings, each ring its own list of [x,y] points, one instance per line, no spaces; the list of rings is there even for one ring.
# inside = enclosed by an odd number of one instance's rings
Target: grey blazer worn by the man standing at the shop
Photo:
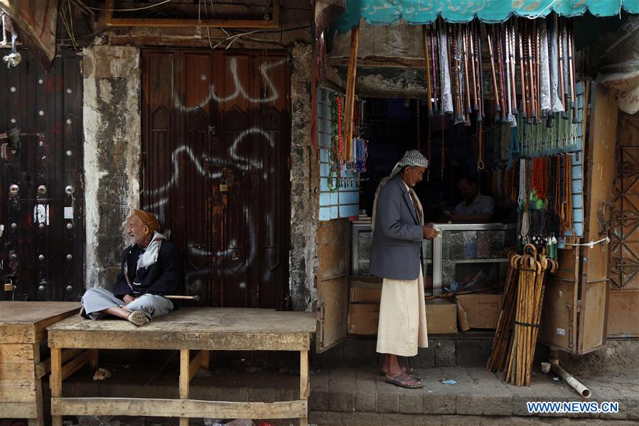
[[[383,278],[417,279],[423,239],[424,228],[419,225],[410,194],[395,176],[377,198],[368,271]]]

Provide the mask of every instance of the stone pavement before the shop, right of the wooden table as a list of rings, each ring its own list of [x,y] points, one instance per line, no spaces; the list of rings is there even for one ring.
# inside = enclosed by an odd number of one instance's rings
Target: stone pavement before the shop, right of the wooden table
[[[421,373],[424,388],[402,389],[385,383],[375,369],[316,371],[311,377],[311,420],[318,425],[535,424],[538,416],[527,412],[528,401],[584,401],[562,381],[540,372],[533,373],[530,388],[503,383],[499,376],[480,367],[424,368]],[[456,383],[446,385],[442,380]],[[547,417],[597,420],[590,424],[603,419],[639,424],[639,372],[616,378],[582,378],[582,383],[593,393],[588,401],[616,401],[619,412]]]

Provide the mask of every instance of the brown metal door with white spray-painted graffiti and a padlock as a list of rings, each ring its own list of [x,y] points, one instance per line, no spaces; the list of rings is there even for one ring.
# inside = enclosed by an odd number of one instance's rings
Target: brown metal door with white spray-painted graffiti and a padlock
[[[200,304],[283,306],[289,78],[281,53],[142,52],[142,207],[180,247]]]

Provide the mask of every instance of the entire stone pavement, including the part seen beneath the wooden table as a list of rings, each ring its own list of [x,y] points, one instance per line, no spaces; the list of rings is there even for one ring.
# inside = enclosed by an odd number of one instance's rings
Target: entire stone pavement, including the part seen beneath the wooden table
[[[85,368],[65,380],[63,394],[129,398],[178,398],[175,366],[107,366],[112,378],[92,381]],[[592,391],[589,401],[616,401],[616,414],[532,416],[527,401],[584,401],[561,381],[539,371],[530,388],[503,383],[482,367],[419,368],[424,388],[401,389],[385,383],[372,366],[315,368],[311,372],[310,422],[316,425],[636,425],[639,424],[639,371],[617,377],[583,377]],[[296,371],[235,369],[200,371],[191,398],[206,400],[274,401],[298,398]],[[442,380],[455,380],[453,385]],[[47,392],[48,393],[48,392]],[[45,393],[45,395],[47,394]],[[46,402],[45,402],[46,404]],[[148,425],[172,425],[173,420],[147,419]],[[126,424],[126,423],[124,423]],[[203,420],[192,420],[203,425]],[[289,425],[289,421],[275,422]]]

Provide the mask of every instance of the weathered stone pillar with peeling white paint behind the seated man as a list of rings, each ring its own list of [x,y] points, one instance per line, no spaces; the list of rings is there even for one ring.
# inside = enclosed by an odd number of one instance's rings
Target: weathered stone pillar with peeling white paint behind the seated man
[[[83,49],[86,287],[112,288],[119,272],[124,221],[139,206],[139,49]]]

